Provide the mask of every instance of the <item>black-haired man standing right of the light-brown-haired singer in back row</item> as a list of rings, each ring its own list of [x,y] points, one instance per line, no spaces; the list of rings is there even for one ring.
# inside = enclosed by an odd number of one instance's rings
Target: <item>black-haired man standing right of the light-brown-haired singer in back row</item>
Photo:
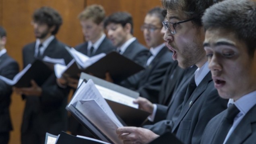
[[[108,38],[117,47],[118,53],[140,65],[145,64],[149,50],[133,36],[133,20],[129,13],[111,14],[105,19],[104,27],[107,29]]]

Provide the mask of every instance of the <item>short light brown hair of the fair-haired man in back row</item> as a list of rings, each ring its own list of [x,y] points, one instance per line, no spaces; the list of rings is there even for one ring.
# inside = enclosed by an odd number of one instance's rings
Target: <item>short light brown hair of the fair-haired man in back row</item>
[[[93,4],[91,6],[87,6],[83,12],[81,12],[78,15],[79,20],[87,20],[87,19],[92,19],[93,22],[96,24],[99,24],[103,22],[105,18],[105,10],[103,6]]]

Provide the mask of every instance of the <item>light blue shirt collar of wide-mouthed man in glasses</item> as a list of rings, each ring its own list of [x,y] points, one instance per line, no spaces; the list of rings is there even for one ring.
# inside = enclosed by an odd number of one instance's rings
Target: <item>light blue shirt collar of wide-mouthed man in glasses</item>
[[[208,67],[208,61],[204,63],[201,68],[196,69],[195,71],[195,82],[196,86],[200,84],[200,82],[204,79],[204,77],[209,73],[210,69]]]

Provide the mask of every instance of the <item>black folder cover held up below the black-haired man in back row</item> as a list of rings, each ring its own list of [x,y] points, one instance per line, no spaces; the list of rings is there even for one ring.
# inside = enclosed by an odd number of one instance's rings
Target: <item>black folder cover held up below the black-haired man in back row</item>
[[[143,69],[141,65],[113,51],[86,69],[79,69],[78,65],[73,63],[64,73],[77,77],[78,73],[85,72],[103,79],[105,73],[109,72],[114,81],[121,81]]]

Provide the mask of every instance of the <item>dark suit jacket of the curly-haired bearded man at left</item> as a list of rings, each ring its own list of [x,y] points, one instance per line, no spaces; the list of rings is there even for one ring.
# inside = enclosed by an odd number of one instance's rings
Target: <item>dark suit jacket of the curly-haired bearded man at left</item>
[[[34,53],[35,42],[23,48],[24,67],[36,59]],[[45,49],[44,56],[64,59],[66,64],[72,60],[65,49],[65,45],[56,38]],[[70,89],[58,87],[54,73],[41,85],[41,88],[41,96],[25,96],[26,105],[21,132],[25,133],[29,128],[36,127],[41,134],[49,132],[58,135],[62,130],[66,131],[67,129],[67,111],[65,107]]]

